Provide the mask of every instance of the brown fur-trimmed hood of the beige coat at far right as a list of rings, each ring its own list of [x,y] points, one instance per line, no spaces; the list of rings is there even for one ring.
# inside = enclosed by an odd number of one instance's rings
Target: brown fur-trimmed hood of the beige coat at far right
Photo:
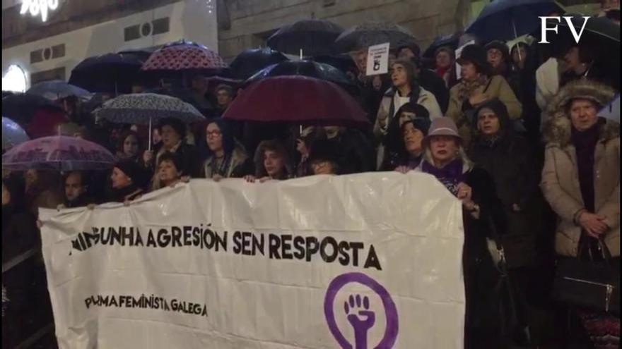
[[[592,80],[568,82],[548,104],[548,120],[544,125],[544,141],[550,145],[565,147],[570,144],[572,123],[568,115],[568,104],[573,99],[587,99],[598,104],[599,108],[614,99],[615,91],[602,83]],[[607,120],[600,135],[602,142],[620,136],[620,124]]]

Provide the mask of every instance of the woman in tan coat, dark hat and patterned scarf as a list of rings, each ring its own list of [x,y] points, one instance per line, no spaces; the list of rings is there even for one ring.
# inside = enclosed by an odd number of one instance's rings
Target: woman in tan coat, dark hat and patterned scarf
[[[488,99],[497,98],[503,102],[512,122],[520,119],[522,104],[505,78],[493,75],[483,47],[476,44],[464,47],[458,63],[462,79],[450,90],[450,106],[446,115],[458,126],[465,145],[471,142],[471,121],[475,109]]]

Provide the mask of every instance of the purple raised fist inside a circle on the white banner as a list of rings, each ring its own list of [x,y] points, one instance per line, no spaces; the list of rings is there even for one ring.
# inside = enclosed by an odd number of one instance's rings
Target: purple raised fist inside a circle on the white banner
[[[382,301],[382,307],[380,309],[374,307],[375,311],[372,311],[370,310],[372,306],[368,296],[361,296],[359,294],[348,296],[346,302],[344,302],[345,314],[341,313],[341,316],[343,317],[345,315],[354,330],[353,343],[346,339],[344,333],[341,333],[339,326],[337,326],[334,312],[334,302],[337,293],[349,283],[358,283],[370,288]],[[385,314],[386,324],[382,323],[382,321],[377,323],[376,320],[382,319],[382,317],[378,318],[376,314],[382,314],[383,312]],[[397,333],[399,332],[397,307],[395,307],[395,303],[387,289],[373,278],[363,273],[341,274],[331,281],[326,291],[326,296],[324,297],[324,315],[326,316],[331,334],[343,349],[390,349],[393,348],[395,341],[397,341]],[[382,338],[368,338],[369,331],[374,326],[385,326],[385,334]],[[376,331],[374,331],[374,333],[376,333]]]

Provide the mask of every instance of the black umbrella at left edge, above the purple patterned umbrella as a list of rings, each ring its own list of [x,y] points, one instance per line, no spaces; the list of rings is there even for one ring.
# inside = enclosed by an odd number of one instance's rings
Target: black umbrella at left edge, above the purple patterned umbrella
[[[63,110],[58,104],[37,94],[16,93],[2,99],[2,114],[22,126],[28,125],[40,109]]]

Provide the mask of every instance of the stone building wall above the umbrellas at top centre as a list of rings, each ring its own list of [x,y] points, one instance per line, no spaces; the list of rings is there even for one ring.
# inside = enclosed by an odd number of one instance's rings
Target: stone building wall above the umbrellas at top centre
[[[325,4],[332,4],[325,6]],[[348,28],[365,21],[394,22],[408,28],[422,48],[438,35],[461,29],[469,0],[221,0],[219,51],[233,59],[240,51],[265,46],[282,25],[319,18]]]

